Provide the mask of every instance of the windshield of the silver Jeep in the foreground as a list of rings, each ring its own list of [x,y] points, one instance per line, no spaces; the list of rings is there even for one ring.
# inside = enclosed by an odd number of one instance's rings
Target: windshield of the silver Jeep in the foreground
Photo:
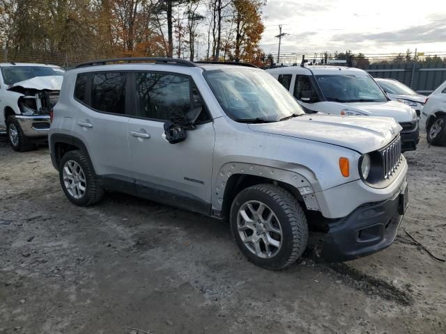
[[[269,73],[234,67],[204,72],[220,106],[233,120],[275,122],[305,113]]]

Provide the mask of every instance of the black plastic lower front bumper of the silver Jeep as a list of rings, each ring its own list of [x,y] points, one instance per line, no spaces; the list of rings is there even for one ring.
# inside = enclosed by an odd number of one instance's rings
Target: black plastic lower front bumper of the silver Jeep
[[[383,202],[357,207],[345,218],[329,224],[321,255],[328,262],[364,257],[390,246],[408,205],[408,187]]]

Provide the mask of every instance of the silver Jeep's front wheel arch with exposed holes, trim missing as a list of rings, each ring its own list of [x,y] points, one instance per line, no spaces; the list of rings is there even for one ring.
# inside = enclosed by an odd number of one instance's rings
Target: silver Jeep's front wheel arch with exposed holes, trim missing
[[[236,195],[249,186],[262,183],[281,186],[302,202],[302,207],[320,210],[312,184],[303,175],[291,170],[234,162],[225,164],[218,172],[212,189],[213,216],[228,217]]]

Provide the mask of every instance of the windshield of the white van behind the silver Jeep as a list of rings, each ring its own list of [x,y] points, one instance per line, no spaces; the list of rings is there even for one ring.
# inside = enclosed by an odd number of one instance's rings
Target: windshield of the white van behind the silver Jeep
[[[381,90],[366,73],[316,75],[323,95],[328,101],[337,102],[386,102]]]

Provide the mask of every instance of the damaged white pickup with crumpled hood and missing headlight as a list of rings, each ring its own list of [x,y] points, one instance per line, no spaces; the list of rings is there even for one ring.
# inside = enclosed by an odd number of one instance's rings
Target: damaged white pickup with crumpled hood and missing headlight
[[[64,72],[55,65],[0,63],[0,127],[6,127],[15,151],[31,150],[47,139]]]

